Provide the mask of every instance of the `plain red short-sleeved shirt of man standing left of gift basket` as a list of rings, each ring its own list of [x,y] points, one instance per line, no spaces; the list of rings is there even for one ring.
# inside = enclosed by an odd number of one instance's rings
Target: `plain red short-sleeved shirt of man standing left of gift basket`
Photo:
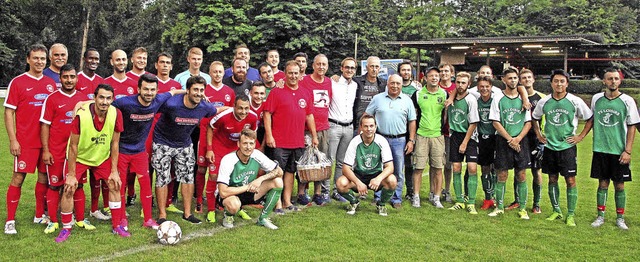
[[[271,131],[278,148],[303,148],[307,115],[313,114],[313,95],[306,88],[288,86],[271,91],[264,111],[271,113]]]

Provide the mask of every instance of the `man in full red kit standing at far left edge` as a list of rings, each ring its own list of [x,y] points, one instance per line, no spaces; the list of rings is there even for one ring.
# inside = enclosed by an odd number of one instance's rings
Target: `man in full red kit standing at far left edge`
[[[13,176],[7,190],[7,220],[4,225],[5,234],[17,234],[16,210],[22,192],[22,183],[28,173],[38,168],[36,182],[36,214],[33,222],[47,224],[49,219],[44,214],[45,195],[47,193],[47,174],[40,151],[40,123],[38,118],[42,103],[53,93],[56,82],[44,76],[42,71],[47,65],[47,48],[40,44],[32,45],[27,52],[26,62],[29,71],[21,74],[9,83],[7,98],[4,101],[4,123],[9,136],[9,150],[14,156]]]

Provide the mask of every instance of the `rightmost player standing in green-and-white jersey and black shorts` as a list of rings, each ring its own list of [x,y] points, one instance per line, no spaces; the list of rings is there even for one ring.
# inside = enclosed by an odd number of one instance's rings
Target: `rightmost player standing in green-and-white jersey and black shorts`
[[[608,68],[602,78],[606,89],[591,99],[593,118],[587,125],[593,125],[593,159],[591,177],[598,179],[598,217],[592,227],[604,224],[609,183],[613,181],[616,202],[616,225],[627,230],[624,211],[627,195],[624,182],[631,181],[631,150],[635,138],[636,125],[640,123],[637,106],[633,98],[618,89],[621,77],[618,70]],[[585,125],[585,129],[587,126]]]

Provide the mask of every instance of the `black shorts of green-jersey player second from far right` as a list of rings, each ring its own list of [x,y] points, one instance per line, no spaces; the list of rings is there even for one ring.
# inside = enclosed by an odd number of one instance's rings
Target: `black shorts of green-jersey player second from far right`
[[[578,149],[576,146],[567,148],[562,151],[555,151],[549,148],[544,149],[542,155],[542,173],[558,174],[563,177],[573,177],[578,174],[577,157]]]

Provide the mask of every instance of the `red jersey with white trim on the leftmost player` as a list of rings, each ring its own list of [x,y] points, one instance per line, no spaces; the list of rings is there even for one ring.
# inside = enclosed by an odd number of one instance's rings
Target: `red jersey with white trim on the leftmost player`
[[[16,138],[24,149],[42,148],[40,143],[40,111],[49,94],[56,90],[56,82],[48,76],[36,78],[23,73],[9,83],[4,107],[14,109]]]

